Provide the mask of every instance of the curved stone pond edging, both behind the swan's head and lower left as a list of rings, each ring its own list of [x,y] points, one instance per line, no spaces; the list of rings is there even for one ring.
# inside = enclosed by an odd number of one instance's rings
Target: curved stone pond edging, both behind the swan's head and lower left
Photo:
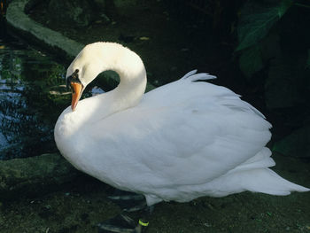
[[[13,0],[9,4],[6,12],[9,30],[58,57],[72,60],[85,45],[30,19],[25,13],[26,8],[29,8],[27,5],[29,2],[29,0]],[[107,77],[110,78],[115,81],[115,76]],[[154,86],[148,83],[147,89],[154,89]],[[64,184],[74,181],[81,175],[59,153],[0,160],[0,168],[1,200],[40,197],[51,190],[62,189]]]

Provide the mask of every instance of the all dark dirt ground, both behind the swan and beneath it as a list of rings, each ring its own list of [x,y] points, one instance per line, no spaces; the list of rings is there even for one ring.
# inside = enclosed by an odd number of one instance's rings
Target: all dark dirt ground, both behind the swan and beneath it
[[[133,6],[112,24],[98,22],[87,28],[53,24],[43,9],[38,6],[31,17],[76,41],[120,42],[136,50],[155,85],[176,80],[195,68],[218,75],[218,83],[229,87],[238,81],[231,61],[232,45],[216,41],[201,28],[195,30],[194,25],[184,30],[184,25],[169,18],[160,1]],[[221,79],[224,75],[229,78]],[[234,90],[251,92],[242,83]],[[260,100],[257,103],[260,105]],[[281,155],[274,159],[279,175],[310,187],[308,159]],[[120,208],[106,198],[110,190],[85,175],[58,192],[0,202],[0,232],[97,232],[98,222],[120,213]],[[189,203],[160,203],[155,206],[147,232],[310,232],[310,194],[275,197],[244,192]]]

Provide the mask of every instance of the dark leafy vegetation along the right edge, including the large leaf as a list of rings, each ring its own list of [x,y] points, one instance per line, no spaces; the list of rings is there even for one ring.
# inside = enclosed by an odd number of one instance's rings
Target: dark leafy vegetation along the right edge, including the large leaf
[[[262,86],[269,113],[282,119],[278,127],[287,129],[273,150],[298,157],[310,152],[309,21],[309,3],[249,0],[237,24],[240,69],[248,82]]]

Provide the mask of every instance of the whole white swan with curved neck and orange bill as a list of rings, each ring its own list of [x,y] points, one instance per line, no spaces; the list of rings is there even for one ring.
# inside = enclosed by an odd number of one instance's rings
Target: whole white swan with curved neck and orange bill
[[[80,100],[107,70],[120,75],[118,87]],[[82,172],[142,194],[148,206],[245,190],[308,191],[268,168],[275,166],[266,147],[271,124],[262,113],[230,89],[198,82],[214,78],[191,71],[144,94],[146,71],[134,51],[91,43],[67,68],[72,105],[55,126],[58,150]]]

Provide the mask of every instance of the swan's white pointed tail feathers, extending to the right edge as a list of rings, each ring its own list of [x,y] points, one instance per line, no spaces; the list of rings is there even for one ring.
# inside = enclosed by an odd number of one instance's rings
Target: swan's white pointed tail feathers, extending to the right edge
[[[309,191],[301,185],[291,183],[267,168],[275,165],[270,158],[271,151],[265,147],[252,159],[230,170],[226,175],[207,183],[206,193],[213,197],[224,197],[229,194],[249,190],[271,195],[289,195],[291,191]],[[213,187],[217,187],[213,190]],[[210,189],[210,190],[209,190]]]

